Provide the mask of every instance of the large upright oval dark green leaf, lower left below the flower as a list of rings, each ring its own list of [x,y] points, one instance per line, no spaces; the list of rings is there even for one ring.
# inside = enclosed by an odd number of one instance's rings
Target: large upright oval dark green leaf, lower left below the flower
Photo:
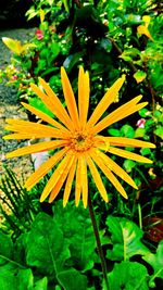
[[[61,229],[51,216],[39,213],[27,237],[26,261],[45,275],[58,276],[65,268],[70,250]]]

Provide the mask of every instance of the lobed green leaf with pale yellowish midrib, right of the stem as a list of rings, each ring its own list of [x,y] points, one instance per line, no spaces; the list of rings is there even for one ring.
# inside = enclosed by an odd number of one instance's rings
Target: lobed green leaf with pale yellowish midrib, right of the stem
[[[134,255],[145,255],[149,249],[143,245],[143,231],[125,217],[109,216],[106,226],[111,232],[113,249],[106,251],[106,257],[112,261],[126,261]]]

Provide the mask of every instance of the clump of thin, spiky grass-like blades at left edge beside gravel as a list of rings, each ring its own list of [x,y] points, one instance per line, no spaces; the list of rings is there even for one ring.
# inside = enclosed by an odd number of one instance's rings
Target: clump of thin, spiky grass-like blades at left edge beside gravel
[[[12,230],[16,237],[29,228],[39,206],[34,205],[34,197],[32,201],[32,196],[23,188],[16,175],[8,167],[4,169],[5,174],[0,179],[0,213],[4,217],[1,227],[7,231]]]

